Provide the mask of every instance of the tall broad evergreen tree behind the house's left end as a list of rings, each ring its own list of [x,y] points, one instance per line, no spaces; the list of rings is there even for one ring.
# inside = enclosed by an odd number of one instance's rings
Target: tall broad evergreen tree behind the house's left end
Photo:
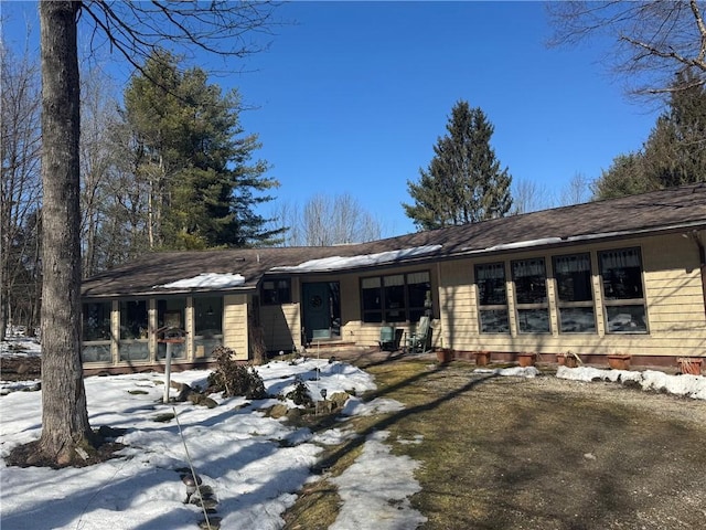
[[[200,68],[179,70],[157,51],[125,92],[126,119],[135,135],[138,174],[149,192],[153,247],[247,246],[275,235],[254,206],[277,187],[268,165],[250,158],[260,145],[244,135],[239,96],[222,94]]]

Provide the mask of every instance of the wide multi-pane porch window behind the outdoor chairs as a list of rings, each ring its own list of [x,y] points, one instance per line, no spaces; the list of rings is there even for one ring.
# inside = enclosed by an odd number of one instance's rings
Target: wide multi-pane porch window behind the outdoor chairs
[[[429,272],[363,278],[361,303],[364,322],[417,321],[431,315]]]

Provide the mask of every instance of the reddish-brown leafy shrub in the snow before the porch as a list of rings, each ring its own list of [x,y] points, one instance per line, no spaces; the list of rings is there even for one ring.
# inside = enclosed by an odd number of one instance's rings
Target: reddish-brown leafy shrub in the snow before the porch
[[[216,370],[208,375],[208,392],[222,392],[224,398],[244,395],[248,400],[267,398],[263,378],[254,368],[233,360],[234,351],[223,346],[214,350]]]

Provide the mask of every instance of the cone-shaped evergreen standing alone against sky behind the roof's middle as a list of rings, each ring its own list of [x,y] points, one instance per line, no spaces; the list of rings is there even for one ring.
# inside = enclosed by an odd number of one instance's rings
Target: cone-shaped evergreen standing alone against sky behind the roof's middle
[[[407,181],[414,204],[403,204],[419,230],[474,223],[505,215],[512,206],[507,168],[501,170],[490,146],[494,127],[480,108],[459,100],[447,136],[434,147],[418,183]]]

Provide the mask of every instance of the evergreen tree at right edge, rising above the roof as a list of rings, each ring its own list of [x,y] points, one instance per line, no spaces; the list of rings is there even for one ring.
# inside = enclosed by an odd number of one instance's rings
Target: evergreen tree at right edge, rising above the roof
[[[674,86],[681,88],[642,149],[613,160],[593,184],[596,199],[706,181],[706,88],[689,80],[688,72],[677,76]]]

